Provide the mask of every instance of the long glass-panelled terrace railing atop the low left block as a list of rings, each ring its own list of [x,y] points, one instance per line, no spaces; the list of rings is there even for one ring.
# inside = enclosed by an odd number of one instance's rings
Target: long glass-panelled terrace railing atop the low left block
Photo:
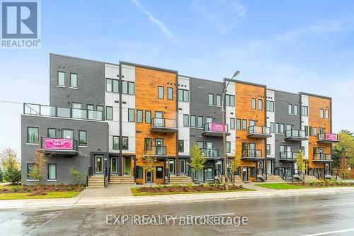
[[[23,114],[81,120],[104,120],[103,111],[23,103]]]

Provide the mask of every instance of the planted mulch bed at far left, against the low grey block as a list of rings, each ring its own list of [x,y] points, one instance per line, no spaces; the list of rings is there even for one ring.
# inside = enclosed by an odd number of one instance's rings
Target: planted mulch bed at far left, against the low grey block
[[[81,185],[32,185],[32,186],[5,186],[0,189],[1,193],[30,193],[28,196],[45,195],[49,192],[82,191]]]

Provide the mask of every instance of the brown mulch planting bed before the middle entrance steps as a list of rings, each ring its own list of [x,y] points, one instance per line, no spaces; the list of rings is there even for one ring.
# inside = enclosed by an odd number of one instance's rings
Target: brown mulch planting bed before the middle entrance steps
[[[243,190],[242,186],[229,186],[229,190]],[[142,187],[137,189],[144,193],[178,193],[178,192],[203,192],[203,191],[225,191],[225,186],[161,186],[160,187]]]

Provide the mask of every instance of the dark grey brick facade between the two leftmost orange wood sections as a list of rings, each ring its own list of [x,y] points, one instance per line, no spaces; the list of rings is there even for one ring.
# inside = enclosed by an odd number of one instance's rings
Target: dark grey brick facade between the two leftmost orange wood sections
[[[202,116],[203,124],[207,117],[212,117],[215,123],[222,123],[221,107],[215,103],[216,95],[222,95],[223,89],[221,82],[190,78],[190,116]],[[208,94],[214,94],[214,106],[208,106]],[[213,142],[213,148],[219,150],[219,158],[223,157],[222,137],[202,136],[202,132],[203,129],[190,128],[190,147],[197,141]]]

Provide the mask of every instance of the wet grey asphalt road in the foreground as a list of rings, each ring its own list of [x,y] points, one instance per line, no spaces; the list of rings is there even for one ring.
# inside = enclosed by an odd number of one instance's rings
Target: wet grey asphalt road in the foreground
[[[176,205],[0,211],[0,235],[354,235],[353,200],[354,193],[341,193]],[[187,215],[193,218],[186,220]]]

